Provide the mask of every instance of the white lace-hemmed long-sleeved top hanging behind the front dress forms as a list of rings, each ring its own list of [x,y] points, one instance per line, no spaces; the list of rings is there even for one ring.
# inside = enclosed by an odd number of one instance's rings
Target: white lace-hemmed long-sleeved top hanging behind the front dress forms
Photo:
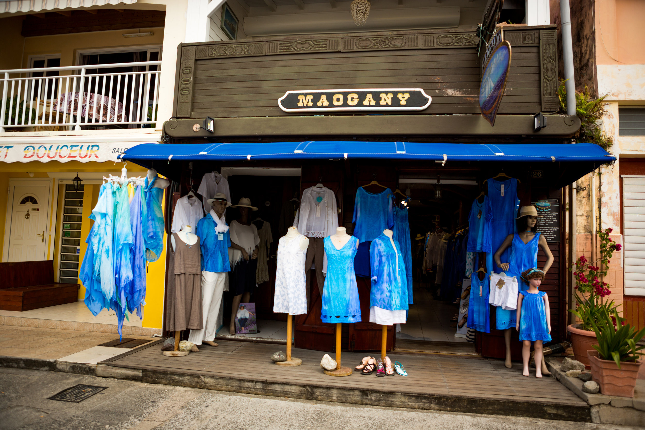
[[[338,227],[336,196],[327,187],[313,186],[300,199],[297,228],[306,237],[327,237]]]

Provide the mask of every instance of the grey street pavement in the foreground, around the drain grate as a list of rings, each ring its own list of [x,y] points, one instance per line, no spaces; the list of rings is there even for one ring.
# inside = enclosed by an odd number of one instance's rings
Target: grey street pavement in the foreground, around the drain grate
[[[83,402],[48,397],[76,384],[107,387]],[[622,430],[632,427],[355,406],[48,371],[0,368],[3,430]]]

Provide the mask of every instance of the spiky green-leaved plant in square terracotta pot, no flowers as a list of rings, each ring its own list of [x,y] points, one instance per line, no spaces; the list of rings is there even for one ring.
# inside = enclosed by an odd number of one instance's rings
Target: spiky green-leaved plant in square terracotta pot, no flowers
[[[645,335],[645,328],[636,331],[630,324],[616,324],[618,313],[610,315],[603,309],[598,322],[593,322],[597,345],[587,352],[591,364],[591,377],[600,386],[600,393],[608,396],[634,396],[638,377],[639,352],[645,346],[636,342]]]

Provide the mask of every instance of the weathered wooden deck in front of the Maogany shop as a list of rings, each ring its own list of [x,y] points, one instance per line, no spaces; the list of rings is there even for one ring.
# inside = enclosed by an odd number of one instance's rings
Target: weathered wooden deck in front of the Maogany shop
[[[186,357],[166,357],[159,347],[139,348],[99,367],[110,376],[123,371],[123,377],[143,382],[255,395],[590,421],[586,402],[555,378],[537,379],[532,371],[530,377],[522,376],[519,363],[506,369],[500,360],[392,353],[390,358],[399,360],[410,376],[353,373],[338,378],[324,375],[321,351],[294,349],[293,357],[301,358],[302,366],[282,367],[270,360],[282,348],[270,344],[220,341],[219,347],[203,345]],[[342,364],[353,367],[364,355],[343,353]]]

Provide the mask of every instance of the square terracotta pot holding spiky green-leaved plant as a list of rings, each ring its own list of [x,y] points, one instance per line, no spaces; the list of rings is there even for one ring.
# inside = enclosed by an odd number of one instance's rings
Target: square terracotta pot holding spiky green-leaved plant
[[[600,386],[600,393],[606,396],[633,397],[639,362],[621,361],[620,369],[613,360],[601,360],[598,351],[587,351],[591,363],[591,377]]]

